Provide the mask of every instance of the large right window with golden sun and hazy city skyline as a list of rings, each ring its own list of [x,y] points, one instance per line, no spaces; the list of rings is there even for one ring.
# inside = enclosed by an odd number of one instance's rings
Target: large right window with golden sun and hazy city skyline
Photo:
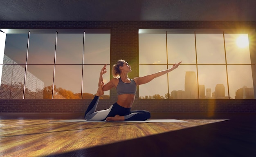
[[[182,61],[178,69],[140,85],[140,99],[254,99],[254,49],[246,30],[139,30],[139,75]],[[253,61],[253,62],[252,62]]]

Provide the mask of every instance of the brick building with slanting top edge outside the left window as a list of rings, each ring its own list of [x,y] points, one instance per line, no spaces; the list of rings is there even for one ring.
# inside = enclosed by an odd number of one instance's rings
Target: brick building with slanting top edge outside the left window
[[[0,99],[22,99],[24,90],[25,68],[4,55],[2,80],[0,86]],[[27,71],[25,86],[25,99],[43,99],[44,82]]]

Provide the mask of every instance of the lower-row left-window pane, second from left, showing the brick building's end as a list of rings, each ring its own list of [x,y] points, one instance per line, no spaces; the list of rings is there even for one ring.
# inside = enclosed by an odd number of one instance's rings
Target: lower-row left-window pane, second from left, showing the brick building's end
[[[25,99],[52,99],[54,65],[27,65]]]

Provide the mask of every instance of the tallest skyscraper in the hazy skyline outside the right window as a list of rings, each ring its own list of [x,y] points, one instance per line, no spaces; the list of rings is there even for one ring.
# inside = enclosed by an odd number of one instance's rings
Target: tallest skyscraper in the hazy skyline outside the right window
[[[185,98],[198,99],[198,86],[197,86],[195,71],[186,71]]]

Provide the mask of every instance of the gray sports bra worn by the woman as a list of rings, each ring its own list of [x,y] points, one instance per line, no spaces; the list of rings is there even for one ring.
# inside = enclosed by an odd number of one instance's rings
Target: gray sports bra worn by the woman
[[[117,84],[117,95],[121,94],[134,94],[136,95],[137,86],[134,80],[130,79],[130,83],[124,83],[121,80],[121,77],[119,78],[119,82]]]

